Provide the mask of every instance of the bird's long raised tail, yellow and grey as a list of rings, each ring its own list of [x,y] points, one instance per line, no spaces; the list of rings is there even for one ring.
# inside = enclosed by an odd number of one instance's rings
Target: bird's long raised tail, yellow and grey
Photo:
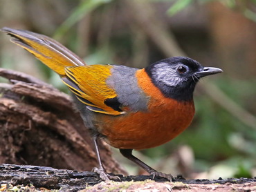
[[[12,28],[2,28],[1,31],[13,37],[11,39],[13,43],[31,52],[37,59],[62,77],[65,76],[64,68],[67,66],[86,65],[75,53],[50,37]]]

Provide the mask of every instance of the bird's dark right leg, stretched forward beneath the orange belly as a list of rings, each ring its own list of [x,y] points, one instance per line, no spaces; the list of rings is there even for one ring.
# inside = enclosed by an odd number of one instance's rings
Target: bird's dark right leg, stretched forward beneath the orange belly
[[[165,173],[158,172],[155,169],[153,169],[152,167],[148,166],[147,164],[145,164],[144,162],[139,160],[137,157],[132,155],[132,149],[120,149],[120,153],[123,156],[127,157],[127,159],[138,164],[138,166],[140,166],[145,171],[147,171],[147,173],[149,173],[150,175],[153,175],[153,179],[154,179],[154,177],[159,176],[159,177],[164,177],[167,180],[172,181],[173,176],[171,174],[165,174]]]

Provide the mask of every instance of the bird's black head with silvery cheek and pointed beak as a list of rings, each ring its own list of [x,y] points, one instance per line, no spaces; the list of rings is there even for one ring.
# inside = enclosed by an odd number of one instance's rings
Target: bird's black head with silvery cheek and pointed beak
[[[188,57],[163,59],[145,70],[165,97],[179,101],[193,98],[194,87],[201,77],[222,72],[220,68],[203,67],[199,62]]]

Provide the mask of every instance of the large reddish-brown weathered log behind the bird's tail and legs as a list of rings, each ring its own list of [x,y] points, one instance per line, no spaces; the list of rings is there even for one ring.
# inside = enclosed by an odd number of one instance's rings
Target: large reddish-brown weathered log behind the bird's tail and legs
[[[89,132],[71,98],[52,86],[0,68],[0,164],[30,164],[91,171],[98,166]],[[125,173],[100,144],[107,171]]]

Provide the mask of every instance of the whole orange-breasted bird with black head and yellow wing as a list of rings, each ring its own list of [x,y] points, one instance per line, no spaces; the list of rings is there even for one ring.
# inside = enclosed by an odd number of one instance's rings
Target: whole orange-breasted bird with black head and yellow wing
[[[4,27],[11,41],[31,52],[55,71],[71,90],[84,126],[95,145],[102,180],[114,180],[106,172],[98,140],[118,148],[120,153],[153,177],[172,180],[135,157],[134,150],[160,146],[190,126],[195,108],[193,92],[202,77],[221,73],[220,68],[203,67],[189,57],[170,57],[146,68],[113,64],[86,65],[59,42],[28,30]]]

